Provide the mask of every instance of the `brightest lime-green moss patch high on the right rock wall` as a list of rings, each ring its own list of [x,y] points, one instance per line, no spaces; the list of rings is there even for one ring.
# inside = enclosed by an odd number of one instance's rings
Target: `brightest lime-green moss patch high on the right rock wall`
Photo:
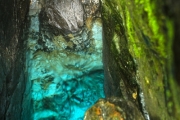
[[[143,30],[143,32],[150,36],[150,42],[152,44],[152,49],[158,53],[158,55],[162,58],[166,58],[166,51],[165,51],[165,35],[164,31],[162,29],[163,23],[163,15],[157,12],[156,8],[156,2],[150,1],[150,0],[136,0],[135,1],[135,7],[132,8],[133,4],[130,5],[126,4],[126,26],[127,30],[132,28],[132,24],[134,23],[140,23],[142,26],[140,29]],[[131,8],[131,9],[129,9]],[[134,13],[132,10],[135,10],[136,13]],[[131,12],[135,15],[131,15],[128,12]],[[156,14],[159,14],[157,17]],[[144,15],[144,16],[142,16]],[[135,18],[137,17],[137,18]],[[132,18],[129,20],[129,18]],[[160,18],[160,19],[159,19]],[[133,23],[131,23],[133,22]],[[147,25],[145,22],[147,22]],[[136,43],[135,43],[136,44]],[[137,47],[138,48],[138,47]],[[138,55],[137,48],[134,48],[135,54]]]

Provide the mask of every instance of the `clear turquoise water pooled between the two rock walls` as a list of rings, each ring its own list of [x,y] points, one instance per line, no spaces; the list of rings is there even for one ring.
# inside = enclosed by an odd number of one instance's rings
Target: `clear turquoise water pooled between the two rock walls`
[[[41,47],[38,14],[30,19],[26,70],[33,120],[82,120],[85,111],[104,98],[102,25],[93,24],[91,54],[57,47],[46,52],[37,50]]]

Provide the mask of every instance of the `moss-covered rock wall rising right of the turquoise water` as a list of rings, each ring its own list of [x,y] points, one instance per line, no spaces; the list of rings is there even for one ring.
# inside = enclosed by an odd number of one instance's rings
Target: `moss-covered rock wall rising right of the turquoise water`
[[[106,96],[131,100],[146,119],[180,119],[175,20],[167,6],[155,0],[102,0]]]

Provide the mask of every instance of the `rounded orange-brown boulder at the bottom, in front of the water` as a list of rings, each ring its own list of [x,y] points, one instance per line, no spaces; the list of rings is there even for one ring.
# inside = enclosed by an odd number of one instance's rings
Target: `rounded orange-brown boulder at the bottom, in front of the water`
[[[133,103],[120,98],[99,99],[86,111],[84,120],[145,120]]]

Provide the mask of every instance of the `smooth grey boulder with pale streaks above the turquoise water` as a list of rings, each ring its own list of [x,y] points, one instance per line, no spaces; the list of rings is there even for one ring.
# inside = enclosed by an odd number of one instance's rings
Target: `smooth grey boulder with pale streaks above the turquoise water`
[[[40,17],[54,29],[63,33],[76,32],[84,25],[84,9],[80,0],[46,0],[44,4]]]

